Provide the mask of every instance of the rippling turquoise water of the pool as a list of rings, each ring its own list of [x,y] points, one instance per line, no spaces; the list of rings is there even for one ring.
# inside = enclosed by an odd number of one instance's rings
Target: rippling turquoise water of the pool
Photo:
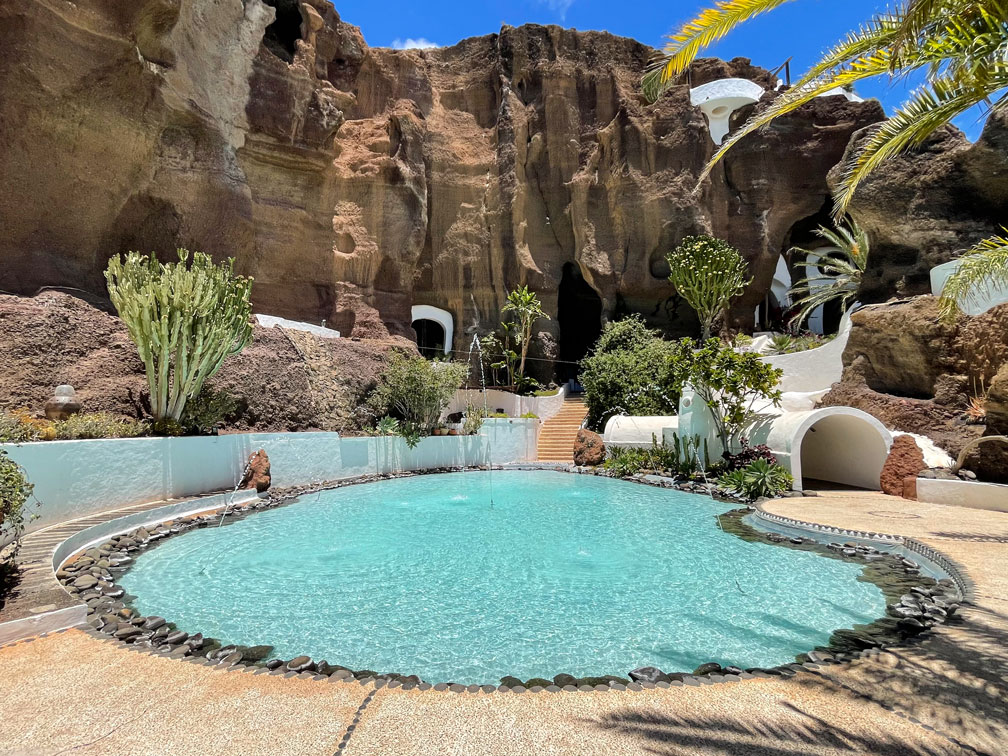
[[[467,684],[769,666],[884,615],[861,566],[727,534],[730,508],[586,475],[424,475],[192,530],[119,583],[224,642]]]

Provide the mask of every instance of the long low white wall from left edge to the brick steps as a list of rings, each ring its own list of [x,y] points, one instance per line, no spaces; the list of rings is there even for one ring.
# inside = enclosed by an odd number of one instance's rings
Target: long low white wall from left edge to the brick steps
[[[341,438],[339,433],[235,433],[181,438],[111,438],[0,445],[24,468],[42,502],[27,530],[141,502],[234,488],[245,461],[269,455],[273,485],[373,473],[531,462],[539,421],[490,418],[478,435]]]

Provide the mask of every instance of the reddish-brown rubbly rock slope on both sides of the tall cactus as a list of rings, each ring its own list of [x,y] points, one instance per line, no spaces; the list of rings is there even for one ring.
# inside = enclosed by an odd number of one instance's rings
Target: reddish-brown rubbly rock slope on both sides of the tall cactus
[[[256,326],[209,385],[239,404],[229,430],[346,430],[373,424],[364,398],[404,339],[355,342]],[[39,412],[73,383],[85,412],[143,416],[147,381],[123,323],[69,294],[0,295],[0,410]]]

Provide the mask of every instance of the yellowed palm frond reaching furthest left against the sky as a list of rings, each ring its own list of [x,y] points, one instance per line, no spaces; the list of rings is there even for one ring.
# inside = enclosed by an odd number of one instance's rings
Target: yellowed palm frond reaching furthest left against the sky
[[[754,16],[768,13],[791,0],[719,0],[669,34],[664,55],[648,67],[641,80],[644,96],[652,102],[691,64],[701,49]]]

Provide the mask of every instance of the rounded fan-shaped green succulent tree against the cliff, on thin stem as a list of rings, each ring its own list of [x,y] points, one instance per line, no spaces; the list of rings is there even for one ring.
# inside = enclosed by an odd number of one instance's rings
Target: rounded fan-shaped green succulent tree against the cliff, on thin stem
[[[710,338],[714,320],[752,280],[746,278],[746,261],[731,244],[710,236],[683,238],[666,259],[671,268],[668,279],[697,310],[701,338]]]

